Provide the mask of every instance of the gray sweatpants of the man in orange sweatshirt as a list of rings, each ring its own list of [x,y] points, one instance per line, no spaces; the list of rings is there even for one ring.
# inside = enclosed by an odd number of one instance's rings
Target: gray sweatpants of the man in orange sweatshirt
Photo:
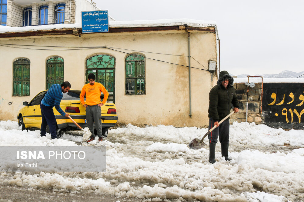
[[[94,123],[98,137],[102,137],[101,107],[98,107],[98,104],[93,106],[88,106],[87,108],[85,108],[85,114],[87,118],[87,126],[92,133],[91,137],[95,137]]]

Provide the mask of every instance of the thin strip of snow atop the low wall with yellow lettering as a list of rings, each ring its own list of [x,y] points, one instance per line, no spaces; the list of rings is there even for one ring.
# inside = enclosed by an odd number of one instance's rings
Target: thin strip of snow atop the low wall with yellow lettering
[[[234,78],[234,83],[245,83],[248,78]],[[261,83],[262,78],[249,77],[249,83]],[[263,83],[304,83],[304,78],[263,78]]]

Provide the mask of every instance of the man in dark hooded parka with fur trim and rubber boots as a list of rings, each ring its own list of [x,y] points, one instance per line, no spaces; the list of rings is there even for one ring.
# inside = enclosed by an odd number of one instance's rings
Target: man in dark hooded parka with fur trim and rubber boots
[[[229,118],[223,121],[219,125],[219,121],[226,117],[231,110],[231,104],[233,105],[233,111],[239,111],[239,102],[237,101],[237,95],[233,85],[233,77],[228,74],[227,71],[221,71],[219,73],[219,79],[217,85],[214,86],[209,92],[209,130],[213,126],[217,126],[208,135],[209,139],[209,162],[215,163],[215,145],[217,138],[221,143],[222,157],[225,157],[226,161],[230,161],[228,157],[229,146]]]

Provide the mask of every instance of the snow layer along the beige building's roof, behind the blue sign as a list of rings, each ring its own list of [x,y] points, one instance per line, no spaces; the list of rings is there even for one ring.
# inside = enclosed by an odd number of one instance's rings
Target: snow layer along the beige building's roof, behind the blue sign
[[[158,26],[174,26],[184,25],[192,27],[209,27],[216,26],[215,21],[202,21],[192,19],[167,19],[167,20],[136,20],[136,21],[109,21],[109,27],[158,27]],[[81,23],[75,24],[57,24],[57,25],[36,25],[27,27],[9,27],[0,25],[0,33],[6,32],[26,32],[41,31],[63,28],[81,28]]]

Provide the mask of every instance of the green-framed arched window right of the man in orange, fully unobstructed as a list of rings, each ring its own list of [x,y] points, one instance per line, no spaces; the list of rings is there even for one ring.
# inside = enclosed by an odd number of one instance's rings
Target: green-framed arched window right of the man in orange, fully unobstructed
[[[126,57],[126,94],[146,94],[145,58],[142,55],[132,54]]]

